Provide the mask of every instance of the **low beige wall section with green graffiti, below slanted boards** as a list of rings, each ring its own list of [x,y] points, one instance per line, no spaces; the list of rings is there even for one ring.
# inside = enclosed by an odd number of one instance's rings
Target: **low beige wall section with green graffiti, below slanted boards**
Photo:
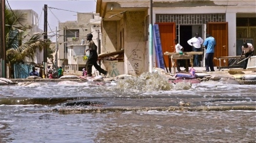
[[[110,77],[124,74],[124,62],[108,61],[102,64],[102,68],[106,69]]]

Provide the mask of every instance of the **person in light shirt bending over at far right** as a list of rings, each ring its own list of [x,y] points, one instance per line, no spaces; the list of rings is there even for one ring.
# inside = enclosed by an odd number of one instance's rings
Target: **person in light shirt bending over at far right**
[[[252,46],[251,43],[246,43],[246,42],[243,43],[243,46],[242,46],[242,54],[241,54],[241,57],[240,57],[240,59],[241,59],[243,54],[244,54],[244,56],[245,56],[243,69],[246,69],[246,68],[247,68],[248,57],[253,56],[253,51],[254,51],[254,48],[253,48],[253,46]],[[246,58],[247,58],[247,59],[246,59]]]

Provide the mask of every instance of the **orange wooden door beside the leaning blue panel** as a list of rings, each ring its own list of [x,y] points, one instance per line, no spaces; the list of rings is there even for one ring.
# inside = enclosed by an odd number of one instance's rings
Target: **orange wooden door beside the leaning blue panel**
[[[175,23],[155,23],[159,26],[160,38],[161,38],[161,45],[163,55],[166,51],[173,52],[175,51],[173,40],[176,38],[176,28]],[[164,60],[166,66],[169,65],[168,56],[164,55]]]

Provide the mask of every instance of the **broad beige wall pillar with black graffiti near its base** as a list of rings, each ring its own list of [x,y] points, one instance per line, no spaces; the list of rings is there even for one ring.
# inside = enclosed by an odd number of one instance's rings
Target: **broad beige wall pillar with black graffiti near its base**
[[[144,72],[145,41],[144,11],[129,11],[124,14],[124,71],[125,74]]]

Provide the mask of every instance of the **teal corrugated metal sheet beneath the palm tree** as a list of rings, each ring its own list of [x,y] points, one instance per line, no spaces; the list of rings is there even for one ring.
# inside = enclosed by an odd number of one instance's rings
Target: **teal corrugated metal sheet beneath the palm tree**
[[[29,72],[32,71],[33,65],[30,64],[14,64],[14,78],[27,78]]]

